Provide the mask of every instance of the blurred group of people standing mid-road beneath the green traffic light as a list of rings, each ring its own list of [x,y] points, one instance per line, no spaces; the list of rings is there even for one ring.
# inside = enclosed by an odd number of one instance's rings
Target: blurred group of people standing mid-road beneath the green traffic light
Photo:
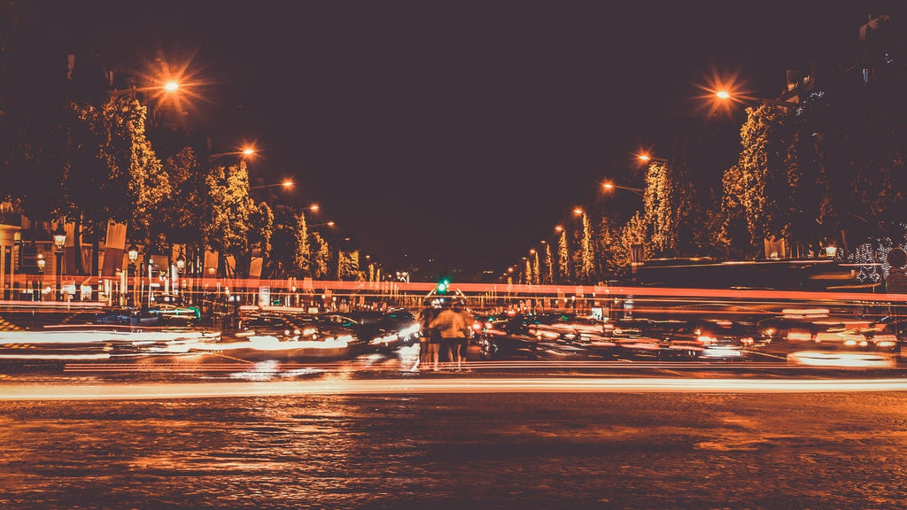
[[[463,369],[466,348],[473,334],[473,317],[462,299],[425,299],[419,313],[419,366]]]

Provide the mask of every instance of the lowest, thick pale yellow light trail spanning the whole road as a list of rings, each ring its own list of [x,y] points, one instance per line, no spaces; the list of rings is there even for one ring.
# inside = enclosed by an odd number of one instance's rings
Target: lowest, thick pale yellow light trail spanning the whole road
[[[828,393],[907,392],[907,380],[739,378],[411,378],[331,379],[276,382],[104,383],[64,387],[0,385],[0,400],[166,400],[213,397],[311,395],[414,395],[478,393]]]

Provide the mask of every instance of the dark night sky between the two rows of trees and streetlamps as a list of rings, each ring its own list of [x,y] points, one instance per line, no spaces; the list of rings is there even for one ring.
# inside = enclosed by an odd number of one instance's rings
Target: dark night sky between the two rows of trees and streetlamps
[[[48,39],[197,83],[214,152],[297,181],[390,268],[501,271],[634,153],[707,118],[716,74],[775,97],[788,68],[853,43],[858,2],[45,2]],[[838,5],[843,4],[843,5]],[[37,27],[37,26],[36,26]],[[740,117],[742,119],[742,117]],[[659,152],[660,151],[660,152]],[[668,155],[668,154],[665,154]]]

